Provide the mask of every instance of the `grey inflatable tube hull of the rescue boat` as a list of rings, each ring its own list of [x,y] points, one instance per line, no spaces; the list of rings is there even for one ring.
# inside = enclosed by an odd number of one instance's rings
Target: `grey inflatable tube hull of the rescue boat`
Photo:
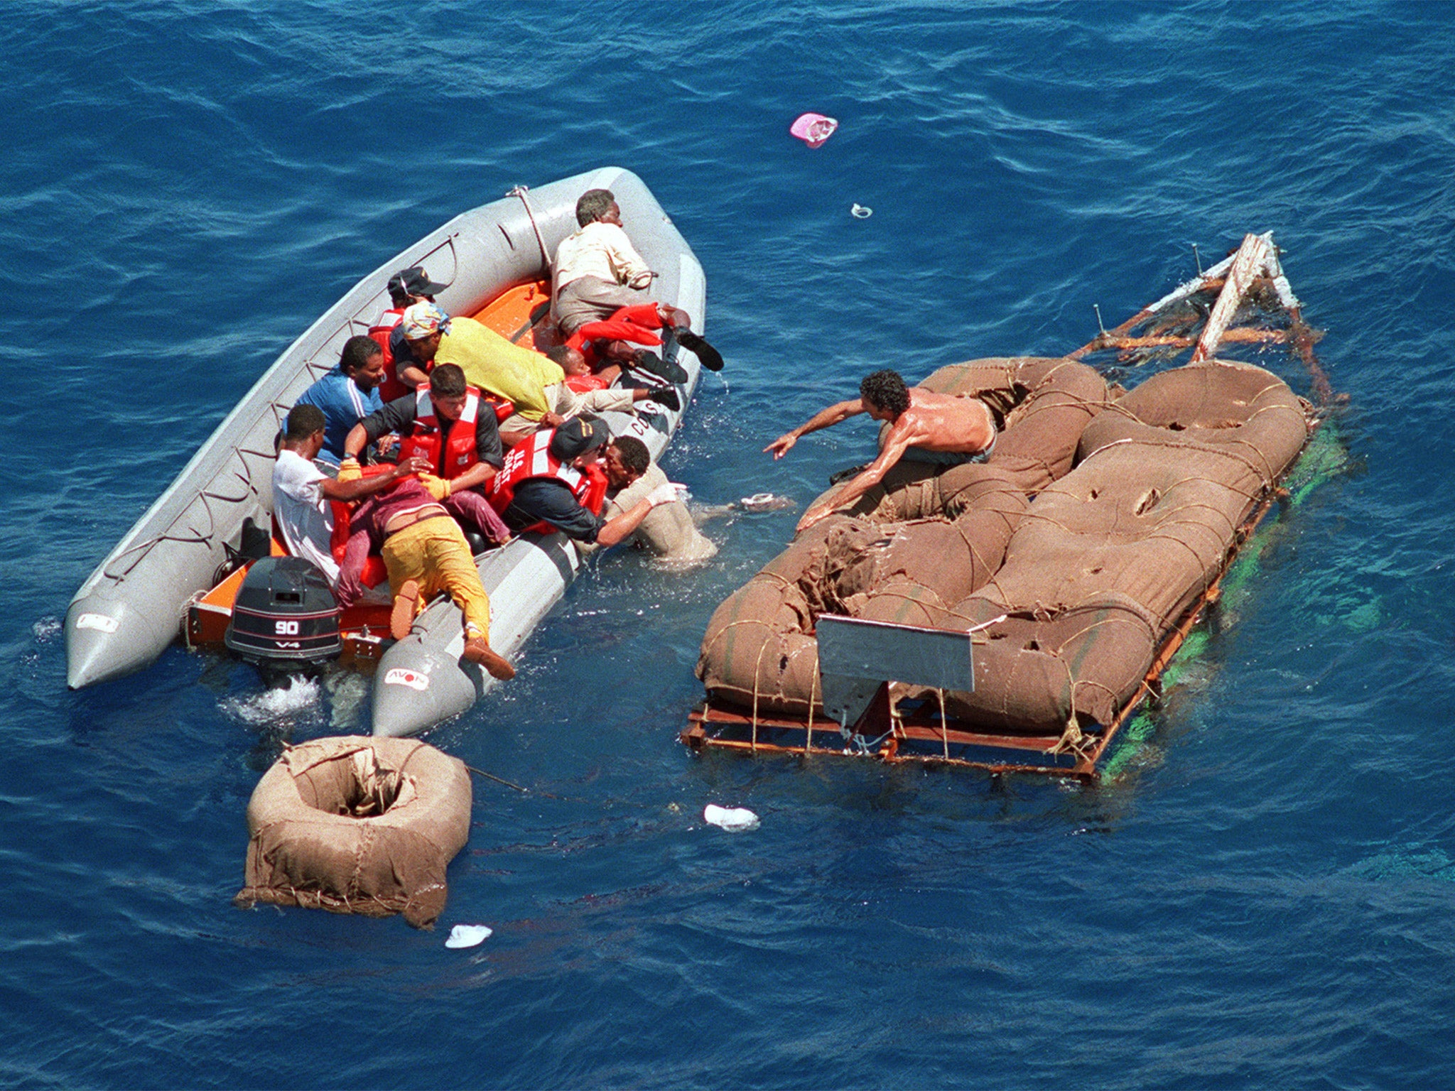
[[[438,303],[451,314],[471,314],[512,285],[550,276],[550,257],[576,228],[576,199],[588,189],[613,191],[633,243],[659,273],[655,298],[688,311],[703,332],[701,265],[629,170],[602,167],[540,189],[518,188],[455,217],[359,281],[290,345],[81,585],[65,611],[70,688],[150,666],[178,639],[188,604],[211,586],[228,547],[240,547],[244,519],[268,525],[274,436],[298,394],[338,362],[343,342],[365,333],[390,305],[384,285],[394,271],[423,265],[431,279],[450,284]],[[700,364],[671,340],[663,348],[687,371],[685,409]],[[605,417],[614,435],[639,436],[656,460],[681,412]],[[509,658],[570,586],[581,559],[563,534],[531,534],[482,554],[477,564],[490,594],[490,644]],[[463,662],[463,650],[458,610],[447,599],[432,604],[378,663],[374,733],[415,735],[474,704],[493,679]]]

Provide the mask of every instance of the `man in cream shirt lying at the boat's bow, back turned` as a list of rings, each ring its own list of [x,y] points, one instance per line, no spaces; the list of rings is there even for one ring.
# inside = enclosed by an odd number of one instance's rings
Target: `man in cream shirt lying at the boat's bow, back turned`
[[[610,189],[582,193],[576,201],[576,223],[581,227],[556,247],[553,310],[566,337],[623,307],[650,301],[649,289],[658,275],[631,246],[621,225],[621,207]],[[687,311],[666,303],[658,303],[656,310],[661,323],[677,333],[678,345],[695,353],[709,371],[722,371],[722,353],[693,333]]]

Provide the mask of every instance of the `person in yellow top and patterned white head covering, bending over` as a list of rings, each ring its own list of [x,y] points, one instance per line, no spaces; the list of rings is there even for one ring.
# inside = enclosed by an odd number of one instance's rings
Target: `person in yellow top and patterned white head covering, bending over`
[[[578,394],[566,385],[560,364],[512,345],[474,319],[451,319],[432,303],[416,303],[404,311],[400,324],[416,361],[432,362],[435,368],[455,364],[471,385],[515,404],[515,415],[501,425],[508,447],[528,436],[541,422],[556,425],[572,413],[629,412],[636,401],[649,397],[681,409],[672,387]]]

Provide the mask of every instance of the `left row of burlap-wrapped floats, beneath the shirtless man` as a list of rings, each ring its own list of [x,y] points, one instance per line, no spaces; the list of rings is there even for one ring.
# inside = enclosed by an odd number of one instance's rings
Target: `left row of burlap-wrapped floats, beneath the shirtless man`
[[[911,460],[845,515],[810,527],[707,624],[697,676],[709,695],[803,716],[819,701],[821,612],[954,627],[953,605],[1001,566],[1027,493],[1065,474],[1106,383],[1067,359],[997,358],[936,371],[925,387],[979,397],[1004,431],[986,464]]]

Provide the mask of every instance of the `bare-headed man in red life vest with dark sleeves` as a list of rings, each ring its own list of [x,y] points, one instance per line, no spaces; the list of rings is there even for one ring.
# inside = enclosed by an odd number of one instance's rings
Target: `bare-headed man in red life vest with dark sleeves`
[[[420,480],[451,515],[492,541],[509,537],[483,492],[505,461],[495,410],[466,384],[460,368],[441,364],[413,394],[359,420],[343,441],[343,464],[356,461],[365,447],[388,432],[402,436],[400,460],[428,460],[429,473]]]

